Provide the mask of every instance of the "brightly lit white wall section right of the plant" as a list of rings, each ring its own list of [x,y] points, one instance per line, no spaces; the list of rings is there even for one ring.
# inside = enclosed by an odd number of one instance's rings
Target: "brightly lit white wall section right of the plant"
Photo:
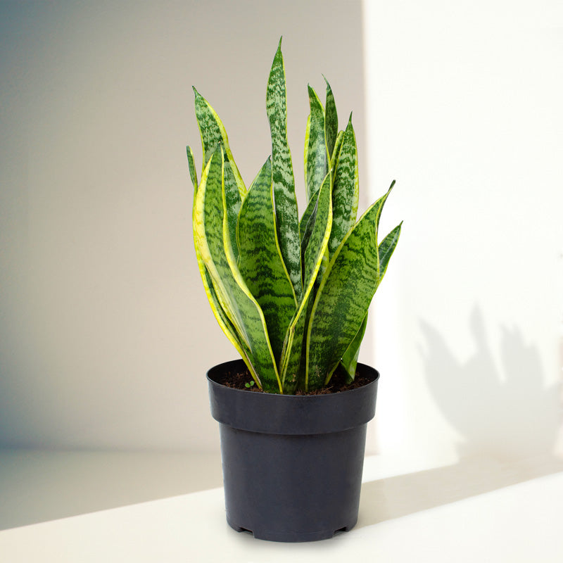
[[[365,6],[369,179],[405,220],[376,297],[381,452],[561,451],[563,8]]]

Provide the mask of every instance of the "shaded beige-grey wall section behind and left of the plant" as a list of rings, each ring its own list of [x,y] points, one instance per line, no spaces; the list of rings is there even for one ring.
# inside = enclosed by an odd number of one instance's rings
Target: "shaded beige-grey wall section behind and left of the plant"
[[[236,351],[193,251],[191,85],[250,182],[281,34],[303,190],[322,73],[365,157],[359,0],[0,3],[0,446],[218,448],[205,371]]]

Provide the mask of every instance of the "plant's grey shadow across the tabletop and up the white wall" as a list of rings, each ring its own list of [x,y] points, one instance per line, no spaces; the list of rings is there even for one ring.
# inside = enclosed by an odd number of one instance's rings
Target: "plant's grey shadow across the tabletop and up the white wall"
[[[460,362],[443,336],[422,322],[426,380],[443,416],[462,436],[460,462],[364,483],[359,526],[563,472],[562,460],[553,455],[560,389],[545,385],[538,351],[518,329],[504,328],[499,369],[479,308],[470,328],[476,352]]]

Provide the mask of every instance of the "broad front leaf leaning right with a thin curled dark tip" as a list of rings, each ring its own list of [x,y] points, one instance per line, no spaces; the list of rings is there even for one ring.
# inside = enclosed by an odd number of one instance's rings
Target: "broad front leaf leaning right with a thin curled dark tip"
[[[350,230],[322,279],[307,334],[310,389],[321,388],[362,325],[379,284],[377,224],[389,192]]]

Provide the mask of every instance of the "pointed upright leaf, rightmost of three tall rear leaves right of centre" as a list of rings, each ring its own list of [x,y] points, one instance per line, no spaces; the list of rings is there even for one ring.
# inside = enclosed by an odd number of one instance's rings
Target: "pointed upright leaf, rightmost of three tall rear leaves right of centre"
[[[334,254],[346,233],[356,222],[358,213],[359,181],[358,151],[352,119],[343,134],[341,148],[336,160],[334,184],[332,188],[332,231],[329,240],[329,253]]]

